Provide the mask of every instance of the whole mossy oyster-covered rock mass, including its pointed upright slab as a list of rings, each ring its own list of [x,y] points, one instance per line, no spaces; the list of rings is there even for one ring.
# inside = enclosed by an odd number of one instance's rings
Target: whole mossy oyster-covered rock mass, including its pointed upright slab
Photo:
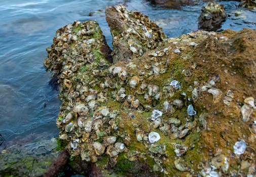
[[[106,18],[112,53],[95,21],[62,27],[47,49],[71,157],[101,176],[255,176],[256,31],[167,38],[124,6]]]

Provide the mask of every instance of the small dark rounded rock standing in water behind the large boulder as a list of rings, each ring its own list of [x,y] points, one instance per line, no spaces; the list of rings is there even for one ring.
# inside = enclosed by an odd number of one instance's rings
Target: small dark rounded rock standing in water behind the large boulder
[[[198,28],[207,31],[214,31],[220,28],[227,17],[224,6],[217,3],[208,3],[201,11]]]

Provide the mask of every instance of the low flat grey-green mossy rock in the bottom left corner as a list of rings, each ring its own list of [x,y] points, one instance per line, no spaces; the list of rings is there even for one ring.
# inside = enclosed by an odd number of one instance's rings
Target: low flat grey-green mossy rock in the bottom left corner
[[[56,139],[52,139],[13,145],[2,150],[0,153],[0,176],[43,176],[52,165],[53,160],[57,159],[61,153],[57,152],[56,147]],[[54,170],[56,171],[57,168]]]

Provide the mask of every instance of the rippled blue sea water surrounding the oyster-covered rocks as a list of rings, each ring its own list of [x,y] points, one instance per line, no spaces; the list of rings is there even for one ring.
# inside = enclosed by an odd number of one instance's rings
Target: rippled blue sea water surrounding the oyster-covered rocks
[[[57,136],[55,120],[60,102],[57,91],[48,84],[45,71],[45,48],[50,47],[55,31],[74,20],[97,20],[111,46],[111,34],[105,22],[104,9],[125,3],[156,21],[168,37],[197,30],[201,7],[165,9],[145,1],[67,1],[2,0],[0,6],[0,134],[12,142],[27,142],[35,137]],[[242,9],[236,17],[238,2],[224,1],[228,19],[223,29],[256,29],[256,10]],[[92,16],[89,13],[93,12]]]

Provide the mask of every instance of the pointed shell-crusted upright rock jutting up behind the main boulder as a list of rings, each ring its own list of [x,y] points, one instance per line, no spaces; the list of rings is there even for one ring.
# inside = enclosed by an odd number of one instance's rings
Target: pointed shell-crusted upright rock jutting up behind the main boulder
[[[124,6],[106,7],[106,21],[113,36],[113,59],[126,61],[165,44],[162,28],[140,12]]]

